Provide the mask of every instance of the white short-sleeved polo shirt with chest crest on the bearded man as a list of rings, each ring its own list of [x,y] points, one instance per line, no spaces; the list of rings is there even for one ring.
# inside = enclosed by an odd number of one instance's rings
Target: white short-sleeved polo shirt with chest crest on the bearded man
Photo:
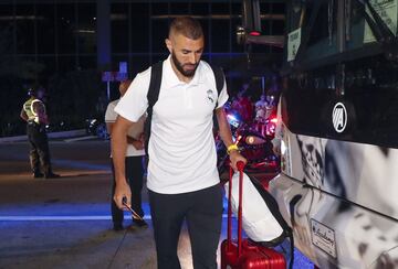
[[[213,72],[200,61],[193,78],[180,82],[170,56],[163,63],[159,98],[154,106],[149,139],[147,187],[157,193],[177,194],[219,183],[212,116],[217,101]],[[115,111],[137,121],[148,107],[150,67],[139,73]],[[218,107],[228,100],[227,86]]]

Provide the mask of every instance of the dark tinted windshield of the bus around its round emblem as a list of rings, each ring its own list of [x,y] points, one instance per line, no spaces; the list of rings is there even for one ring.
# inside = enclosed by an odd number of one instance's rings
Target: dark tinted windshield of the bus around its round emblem
[[[290,11],[286,65],[300,68],[287,72],[284,121],[296,133],[398,148],[398,62],[386,57],[363,3],[350,1],[339,34],[337,4],[328,2],[292,6]],[[395,1],[370,2],[396,33],[390,20],[397,21]],[[344,133],[332,126],[332,110],[339,100],[347,109]]]

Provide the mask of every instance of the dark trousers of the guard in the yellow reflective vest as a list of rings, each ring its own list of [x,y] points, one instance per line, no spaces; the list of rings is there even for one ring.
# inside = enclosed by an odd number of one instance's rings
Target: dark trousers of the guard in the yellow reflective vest
[[[45,127],[35,122],[27,125],[28,140],[30,144],[29,159],[33,173],[51,174],[49,140]]]

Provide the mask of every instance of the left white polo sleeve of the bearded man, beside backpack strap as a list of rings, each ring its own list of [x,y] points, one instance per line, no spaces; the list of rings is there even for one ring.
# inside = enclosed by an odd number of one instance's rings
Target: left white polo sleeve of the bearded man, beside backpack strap
[[[137,122],[148,107],[147,93],[150,82],[150,67],[138,74],[132,82],[126,94],[115,107],[115,111],[123,118]]]

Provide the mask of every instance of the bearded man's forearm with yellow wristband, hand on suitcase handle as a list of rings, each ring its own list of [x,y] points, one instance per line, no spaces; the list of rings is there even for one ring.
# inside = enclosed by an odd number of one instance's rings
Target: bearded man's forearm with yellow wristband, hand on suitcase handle
[[[222,107],[216,109],[216,116],[217,116],[217,121],[219,125],[220,137],[221,137],[223,143],[226,144],[226,147],[228,148],[229,146],[233,144],[233,141],[232,141],[231,129],[229,127],[227,116],[226,116],[226,112]],[[230,161],[231,161],[232,169],[234,171],[237,171],[237,163],[239,161],[247,163],[245,158],[242,157],[238,150],[232,150],[230,152]]]

